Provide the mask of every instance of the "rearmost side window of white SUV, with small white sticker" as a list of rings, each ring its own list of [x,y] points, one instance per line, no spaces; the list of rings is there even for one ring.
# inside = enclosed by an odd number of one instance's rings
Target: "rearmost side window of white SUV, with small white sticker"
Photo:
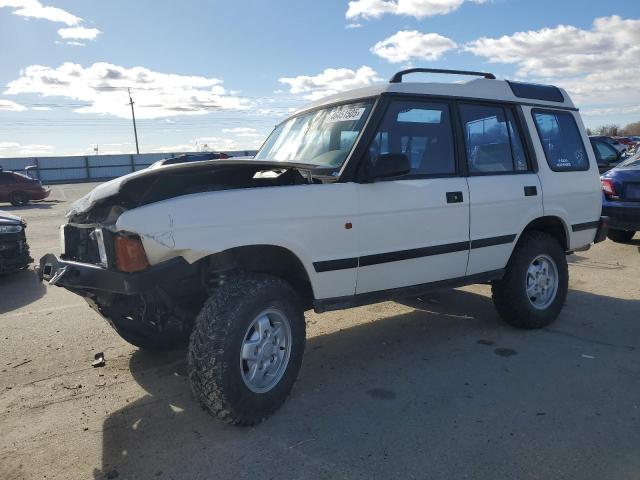
[[[571,113],[534,110],[533,119],[551,170],[589,170],[589,157]]]

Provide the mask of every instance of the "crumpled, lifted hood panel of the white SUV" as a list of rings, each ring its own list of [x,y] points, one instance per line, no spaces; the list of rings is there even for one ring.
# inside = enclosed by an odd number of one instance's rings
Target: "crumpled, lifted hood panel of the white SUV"
[[[83,214],[91,210],[97,203],[107,198],[113,197],[120,193],[123,188],[134,181],[142,179],[149,180],[152,177],[163,177],[170,174],[183,174],[196,171],[210,173],[217,169],[229,168],[233,166],[245,166],[253,168],[256,171],[291,168],[309,170],[314,165],[294,163],[294,162],[276,162],[267,160],[252,159],[225,159],[225,160],[205,160],[201,162],[189,162],[174,165],[165,165],[157,168],[146,168],[137,172],[129,173],[122,177],[109,180],[108,182],[98,185],[84,197],[76,200],[70,210],[67,212],[67,218],[71,218],[78,214]]]

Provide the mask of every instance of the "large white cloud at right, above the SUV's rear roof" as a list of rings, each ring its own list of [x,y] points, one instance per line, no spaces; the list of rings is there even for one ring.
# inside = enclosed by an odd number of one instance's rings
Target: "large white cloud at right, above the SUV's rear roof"
[[[590,30],[570,25],[479,38],[464,49],[517,75],[566,88],[584,104],[640,103],[640,20],[596,18]]]

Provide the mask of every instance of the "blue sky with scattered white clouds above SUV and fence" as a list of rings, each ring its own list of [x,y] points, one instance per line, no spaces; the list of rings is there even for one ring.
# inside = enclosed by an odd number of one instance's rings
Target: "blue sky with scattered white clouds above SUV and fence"
[[[590,126],[640,120],[638,0],[0,0],[0,45],[5,157],[133,151],[127,87],[143,152],[252,148],[408,65],[561,85]]]

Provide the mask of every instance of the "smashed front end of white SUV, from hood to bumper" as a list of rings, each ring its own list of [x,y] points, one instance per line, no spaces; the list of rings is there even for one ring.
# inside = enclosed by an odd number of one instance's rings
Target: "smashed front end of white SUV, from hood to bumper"
[[[307,183],[290,164],[214,160],[136,172],[78,200],[61,227],[61,255],[47,254],[42,280],[85,298],[129,343],[166,349],[184,342],[221,273],[203,259],[176,255],[150,262],[136,232],[116,223],[124,212],[200,192]],[[204,207],[204,206],[203,206]]]

